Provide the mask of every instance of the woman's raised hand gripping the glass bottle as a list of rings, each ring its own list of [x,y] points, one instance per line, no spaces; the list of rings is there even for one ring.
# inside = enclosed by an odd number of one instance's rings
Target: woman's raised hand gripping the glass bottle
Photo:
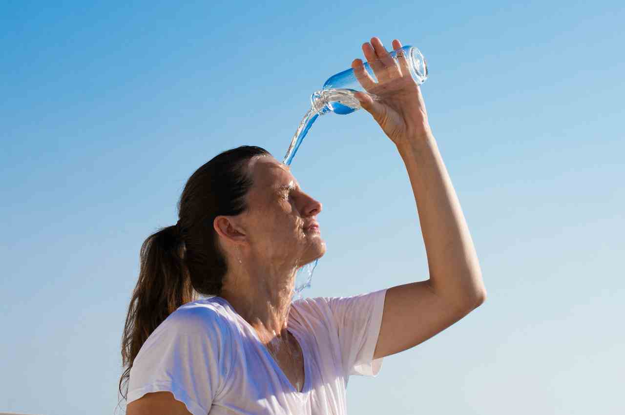
[[[377,37],[372,37],[371,43],[362,44],[362,52],[377,83],[367,73],[361,59],[354,59],[351,67],[362,88],[374,94],[376,99],[362,92],[356,92],[354,96],[388,138],[396,146],[401,146],[407,141],[424,138],[431,134],[431,130],[421,89],[409,73],[406,58],[397,50],[401,49],[401,42],[395,39],[392,46],[397,51],[396,60]]]

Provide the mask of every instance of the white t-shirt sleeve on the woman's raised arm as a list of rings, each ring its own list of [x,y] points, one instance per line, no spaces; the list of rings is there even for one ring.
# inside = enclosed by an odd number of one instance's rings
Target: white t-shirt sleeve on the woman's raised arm
[[[373,359],[382,325],[386,289],[351,297],[327,297],[336,322],[343,369],[347,376],[376,376],[382,357]]]

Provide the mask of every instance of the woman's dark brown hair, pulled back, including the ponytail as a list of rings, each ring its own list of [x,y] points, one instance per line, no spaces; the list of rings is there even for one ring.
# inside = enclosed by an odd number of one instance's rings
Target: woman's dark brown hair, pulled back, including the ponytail
[[[121,341],[124,369],[119,392],[128,396],[130,369],[139,349],[164,319],[196,294],[219,295],[227,272],[213,221],[246,211],[252,186],[246,162],[271,156],[266,149],[241,146],[218,154],[187,180],[178,201],[177,225],[148,236],[139,252],[139,281],[128,307]],[[125,390],[124,390],[125,389]]]

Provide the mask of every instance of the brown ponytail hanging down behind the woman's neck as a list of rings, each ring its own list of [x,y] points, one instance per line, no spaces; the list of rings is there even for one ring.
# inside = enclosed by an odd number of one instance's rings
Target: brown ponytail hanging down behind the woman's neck
[[[163,227],[148,236],[139,258],[139,281],[134,287],[122,337],[121,356],[126,370],[119,379],[119,392],[124,399],[128,394],[130,369],[143,343],[169,314],[194,299],[178,225]]]

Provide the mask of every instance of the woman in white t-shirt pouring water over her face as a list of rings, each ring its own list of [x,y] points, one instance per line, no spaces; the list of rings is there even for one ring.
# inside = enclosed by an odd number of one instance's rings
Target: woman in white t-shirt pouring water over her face
[[[434,336],[486,298],[419,86],[377,37],[362,50],[377,83],[360,59],[352,68],[381,99],[356,98],[406,165],[429,279],[291,302],[297,269],[326,251],[321,203],[264,149],[221,153],[187,181],[178,223],[141,247],[123,337],[128,415],[346,414],[350,375],[376,376],[383,357]]]

